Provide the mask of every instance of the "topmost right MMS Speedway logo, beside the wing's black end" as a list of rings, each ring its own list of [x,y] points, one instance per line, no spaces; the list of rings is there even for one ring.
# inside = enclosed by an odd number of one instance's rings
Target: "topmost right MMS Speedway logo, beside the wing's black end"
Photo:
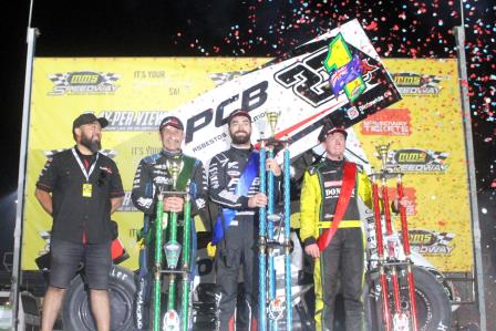
[[[393,73],[393,81],[397,91],[404,95],[436,96],[441,92],[440,82],[442,76],[417,74],[413,72]]]

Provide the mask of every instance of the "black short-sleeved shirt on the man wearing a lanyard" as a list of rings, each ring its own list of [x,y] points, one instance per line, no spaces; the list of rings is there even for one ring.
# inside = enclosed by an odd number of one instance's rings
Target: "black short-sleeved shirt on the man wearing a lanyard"
[[[46,162],[37,187],[52,193],[53,238],[82,242],[84,231],[90,244],[112,240],[111,198],[124,196],[124,190],[110,157],[85,157],[76,147],[60,152]]]

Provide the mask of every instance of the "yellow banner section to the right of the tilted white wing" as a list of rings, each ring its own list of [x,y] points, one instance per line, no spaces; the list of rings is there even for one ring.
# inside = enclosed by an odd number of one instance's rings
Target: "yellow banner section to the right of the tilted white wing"
[[[403,100],[354,126],[361,146],[372,166],[380,168],[374,146],[391,143],[388,164],[404,173],[412,250],[442,271],[472,271],[465,118],[457,62],[388,60],[384,63]],[[389,185],[395,187],[394,179]]]

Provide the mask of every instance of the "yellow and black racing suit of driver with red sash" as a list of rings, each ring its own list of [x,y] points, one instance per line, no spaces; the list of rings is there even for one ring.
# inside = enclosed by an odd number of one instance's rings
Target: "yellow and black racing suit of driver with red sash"
[[[332,225],[335,205],[341,192],[344,161],[326,158],[308,168],[301,190],[300,236],[304,246],[316,244]],[[347,330],[363,330],[363,255],[358,199],[372,207],[372,187],[366,175],[358,167],[355,186],[339,224],[338,231],[314,261],[317,330],[333,329],[334,301],[338,277],[344,298]]]

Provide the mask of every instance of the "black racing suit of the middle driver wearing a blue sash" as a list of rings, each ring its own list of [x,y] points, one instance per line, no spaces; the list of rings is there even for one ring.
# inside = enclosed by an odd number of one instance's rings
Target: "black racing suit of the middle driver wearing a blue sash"
[[[248,199],[259,192],[260,178],[258,175],[254,179],[247,196],[235,194],[236,186],[251,152],[251,148],[242,149],[231,146],[228,151],[214,156],[208,169],[209,195],[210,199],[219,206],[219,215],[223,208],[237,211],[230,225],[225,229],[224,238],[217,244],[215,257],[217,285],[221,289],[219,319],[220,330],[223,331],[235,329],[238,275],[241,265],[248,310],[248,317],[244,317],[244,320],[255,322],[257,316],[258,265],[256,263],[256,257],[258,210],[248,207]],[[275,188],[279,185],[279,178],[276,178],[276,180]],[[252,323],[249,324],[252,325]]]

